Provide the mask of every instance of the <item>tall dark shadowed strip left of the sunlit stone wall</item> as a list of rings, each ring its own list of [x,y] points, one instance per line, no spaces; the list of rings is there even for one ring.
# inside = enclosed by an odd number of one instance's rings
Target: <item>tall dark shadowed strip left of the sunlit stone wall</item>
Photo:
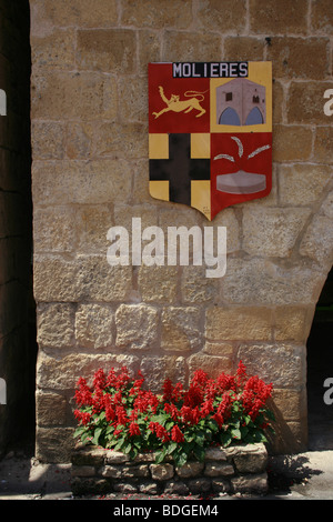
[[[0,378],[6,381],[6,404],[0,405],[0,454],[34,429],[29,79],[29,2],[1,0],[6,116],[0,116]]]

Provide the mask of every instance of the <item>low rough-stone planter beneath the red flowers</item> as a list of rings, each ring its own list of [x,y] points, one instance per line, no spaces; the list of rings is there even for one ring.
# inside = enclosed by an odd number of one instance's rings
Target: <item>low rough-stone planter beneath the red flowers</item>
[[[83,494],[194,494],[255,493],[268,491],[268,452],[264,444],[211,448],[204,462],[178,468],[170,459],[157,464],[153,453],[130,460],[118,451],[77,446],[72,454],[71,489]]]

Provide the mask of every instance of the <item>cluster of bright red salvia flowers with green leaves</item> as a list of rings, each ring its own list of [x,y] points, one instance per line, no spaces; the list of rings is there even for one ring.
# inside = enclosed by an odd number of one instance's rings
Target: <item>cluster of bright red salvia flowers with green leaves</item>
[[[134,443],[142,451],[173,444],[174,451],[175,445],[194,448],[203,432],[211,433],[205,445],[223,443],[225,435],[235,442],[246,434],[255,440],[271,425],[265,415],[272,390],[258,375],[249,378],[242,361],[235,375],[210,379],[203,370],[195,371],[188,390],[165,379],[162,395],[144,389],[140,372],[133,379],[127,368],[112,368],[108,374],[99,369],[91,388],[85,379],[78,380],[74,416],[80,433],[94,443],[131,451]]]

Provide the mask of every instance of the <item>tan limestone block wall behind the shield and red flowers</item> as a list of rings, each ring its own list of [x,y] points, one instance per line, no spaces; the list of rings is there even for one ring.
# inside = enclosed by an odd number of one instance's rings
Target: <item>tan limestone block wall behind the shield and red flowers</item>
[[[273,451],[306,445],[306,339],[332,264],[330,0],[31,0],[37,455],[68,461],[73,388],[127,364],[157,390],[239,359],[275,388]],[[204,227],[148,191],[148,62],[273,62],[273,189],[222,211],[228,268],[113,267],[107,232]]]

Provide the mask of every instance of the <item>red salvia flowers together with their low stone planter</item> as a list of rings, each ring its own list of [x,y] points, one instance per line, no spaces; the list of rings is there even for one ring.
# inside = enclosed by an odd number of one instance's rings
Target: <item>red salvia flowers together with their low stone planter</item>
[[[242,361],[235,375],[198,370],[188,390],[165,379],[157,395],[143,383],[127,368],[98,370],[92,387],[79,379],[74,494],[266,491],[272,384]]]

